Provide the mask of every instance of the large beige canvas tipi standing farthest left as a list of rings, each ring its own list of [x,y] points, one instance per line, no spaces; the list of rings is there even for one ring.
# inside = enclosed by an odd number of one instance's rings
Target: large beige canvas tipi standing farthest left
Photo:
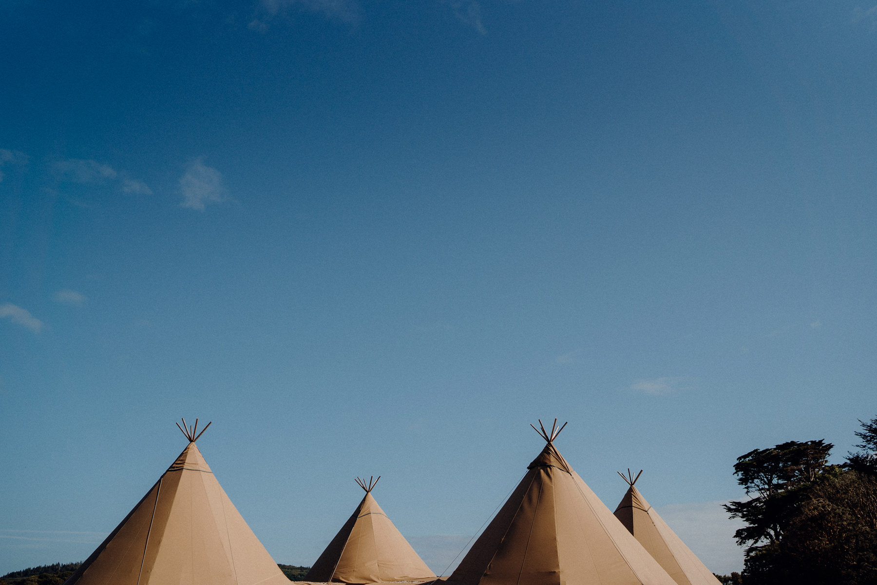
[[[289,585],[185,425],[189,445],[65,585]]]

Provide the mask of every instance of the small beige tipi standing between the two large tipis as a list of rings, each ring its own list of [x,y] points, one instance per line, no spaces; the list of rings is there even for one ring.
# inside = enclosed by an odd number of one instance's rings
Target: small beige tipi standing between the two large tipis
[[[373,479],[374,476],[365,482],[356,478],[366,495],[310,568],[306,581],[374,583],[435,579],[430,567],[374,501],[372,489],[377,480]]]

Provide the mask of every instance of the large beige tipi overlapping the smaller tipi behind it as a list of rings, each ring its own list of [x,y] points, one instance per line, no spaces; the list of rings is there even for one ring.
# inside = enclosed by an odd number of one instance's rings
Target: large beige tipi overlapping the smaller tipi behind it
[[[557,419],[539,426],[545,448],[448,583],[676,585],[554,447]]]

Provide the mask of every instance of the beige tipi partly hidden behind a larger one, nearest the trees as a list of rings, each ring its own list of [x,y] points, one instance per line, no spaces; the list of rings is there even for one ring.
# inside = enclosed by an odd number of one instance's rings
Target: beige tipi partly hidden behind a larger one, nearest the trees
[[[676,533],[670,530],[667,523],[658,516],[658,512],[634,487],[633,484],[642,473],[640,470],[634,477],[628,469],[625,477],[620,471],[618,472],[629,488],[618,504],[615,516],[679,585],[719,585],[716,576],[688,546],[685,546]]]

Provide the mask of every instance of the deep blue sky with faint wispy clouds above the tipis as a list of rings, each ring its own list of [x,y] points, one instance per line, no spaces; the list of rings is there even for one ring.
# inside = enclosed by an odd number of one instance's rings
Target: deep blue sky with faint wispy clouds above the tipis
[[[877,416],[875,49],[873,0],[5,0],[0,574],[181,416],[279,562],[381,474],[440,572],[560,417],[738,570],[735,458]]]

